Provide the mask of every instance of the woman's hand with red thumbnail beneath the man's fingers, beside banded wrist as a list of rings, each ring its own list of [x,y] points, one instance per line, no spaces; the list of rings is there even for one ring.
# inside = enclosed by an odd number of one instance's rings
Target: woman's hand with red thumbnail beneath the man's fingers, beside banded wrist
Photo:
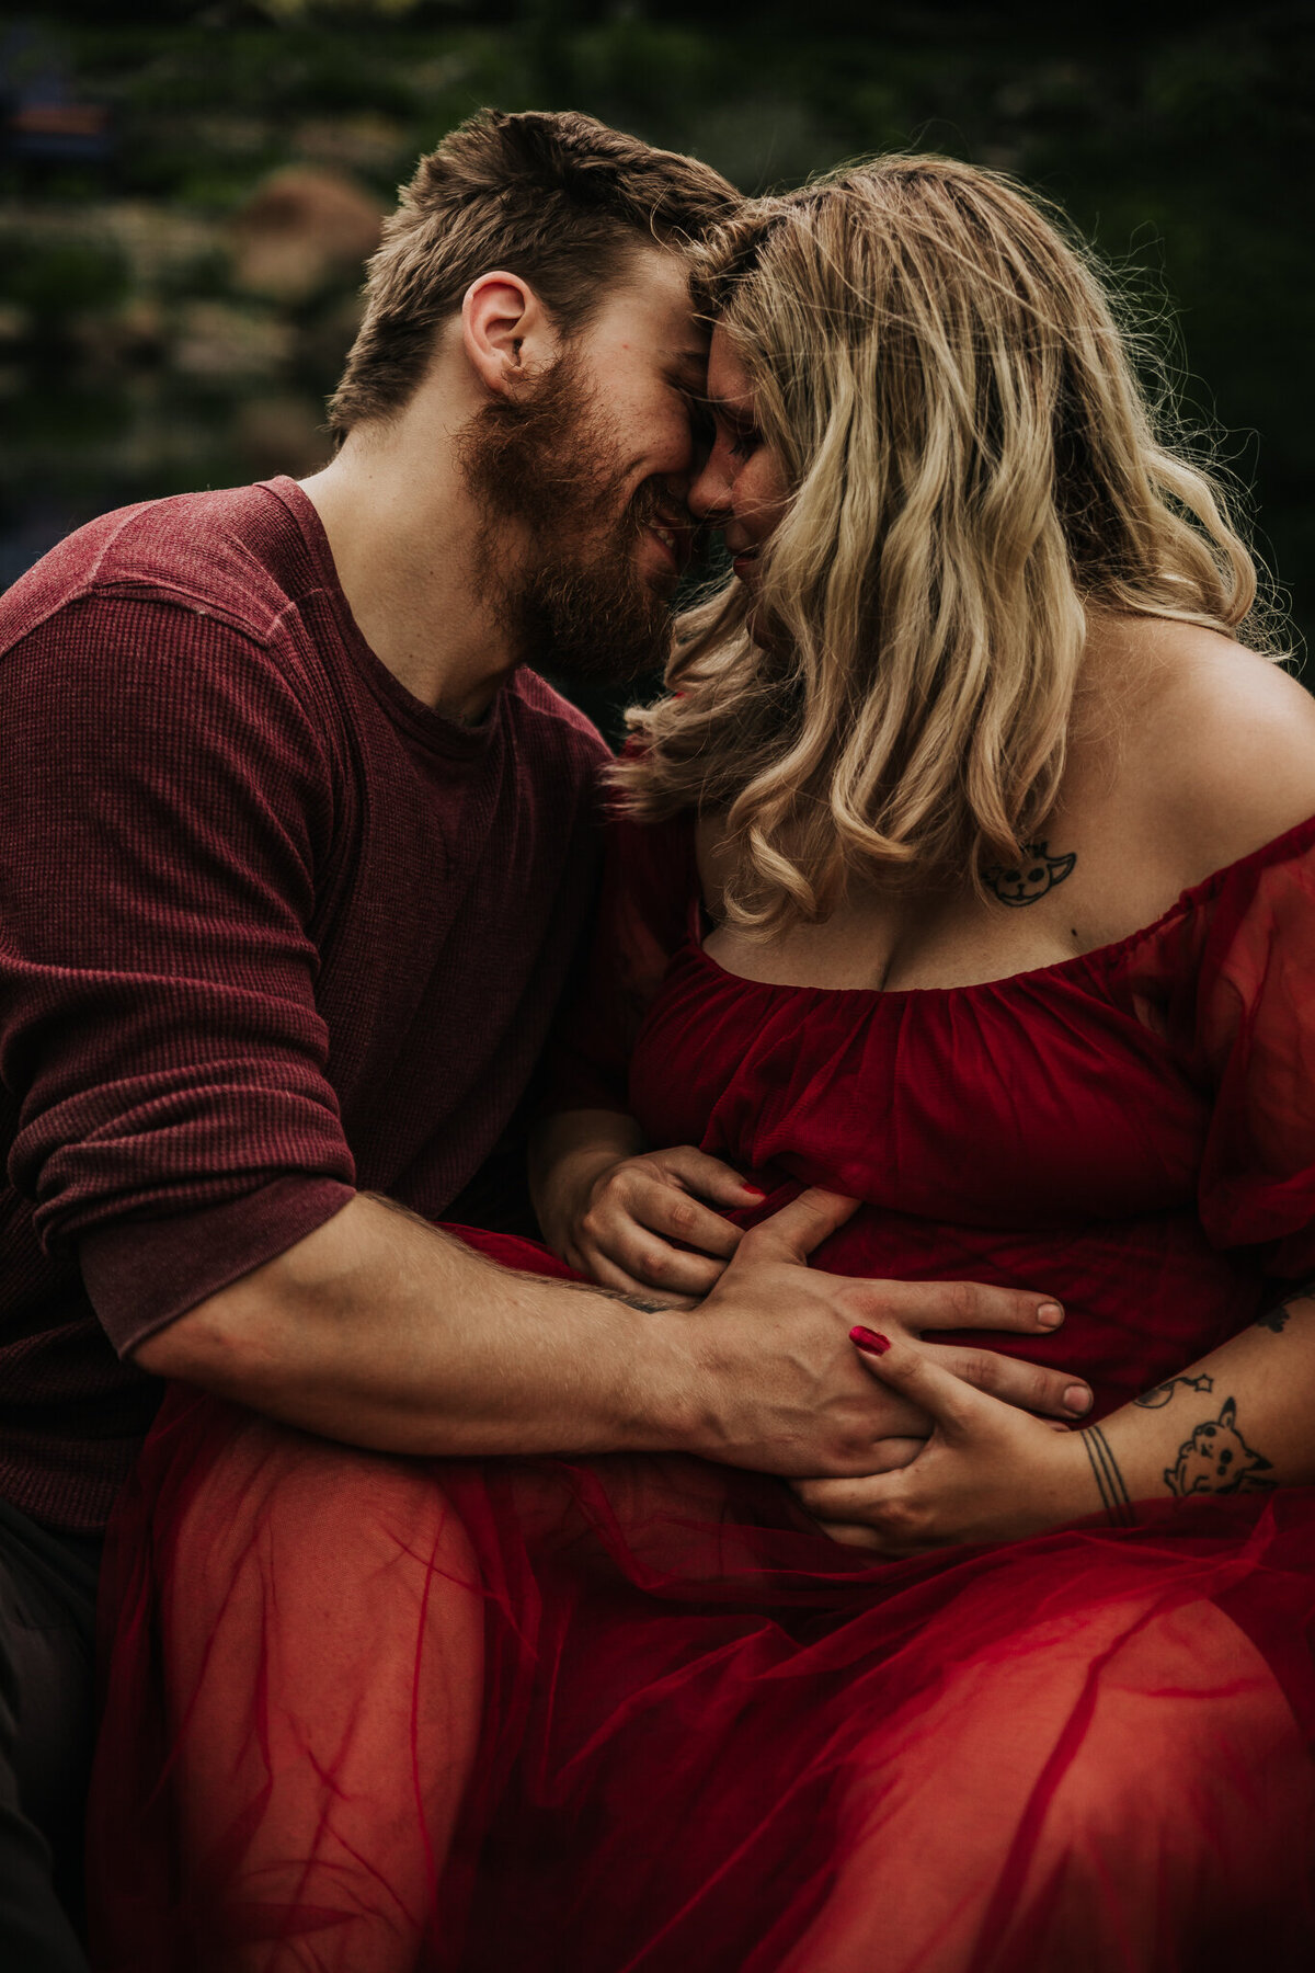
[[[927,1440],[887,1440],[889,1468],[864,1480],[798,1480],[836,1541],[921,1555],[956,1541],[1017,1541],[1100,1511],[1080,1430],[976,1391],[909,1338],[852,1330],[864,1365],[931,1421]],[[911,1456],[909,1456],[911,1454]]]

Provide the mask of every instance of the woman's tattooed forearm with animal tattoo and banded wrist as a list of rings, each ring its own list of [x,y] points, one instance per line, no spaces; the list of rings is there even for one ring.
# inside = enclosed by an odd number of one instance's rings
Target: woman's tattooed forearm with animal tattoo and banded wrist
[[[1315,1482],[1315,1284],[1082,1436],[1112,1521],[1147,1499]]]

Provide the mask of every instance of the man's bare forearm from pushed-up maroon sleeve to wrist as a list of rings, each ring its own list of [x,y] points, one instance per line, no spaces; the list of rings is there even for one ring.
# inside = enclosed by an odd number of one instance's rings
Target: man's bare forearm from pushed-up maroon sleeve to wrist
[[[686,1442],[674,1316],[495,1267],[357,1198],[136,1352],[306,1430],[386,1452],[615,1452]]]

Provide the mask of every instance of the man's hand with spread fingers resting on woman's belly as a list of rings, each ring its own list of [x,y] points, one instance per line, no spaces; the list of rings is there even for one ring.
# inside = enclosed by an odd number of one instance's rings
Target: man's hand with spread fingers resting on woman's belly
[[[1090,1407],[1084,1383],[990,1350],[923,1342],[925,1330],[1049,1334],[1063,1310],[1043,1294],[980,1282],[850,1280],[804,1269],[854,1200],[802,1192],[747,1231],[712,1294],[682,1324],[682,1355],[696,1387],[684,1448],[727,1466],[787,1476],[867,1476],[889,1464],[883,1440],[925,1438],[931,1413],[917,1393],[875,1383],[850,1344],[856,1324],[899,1336],[901,1346],[968,1395],[988,1391],[1005,1407],[1061,1419]],[[1033,1428],[1035,1421],[1027,1421]]]

